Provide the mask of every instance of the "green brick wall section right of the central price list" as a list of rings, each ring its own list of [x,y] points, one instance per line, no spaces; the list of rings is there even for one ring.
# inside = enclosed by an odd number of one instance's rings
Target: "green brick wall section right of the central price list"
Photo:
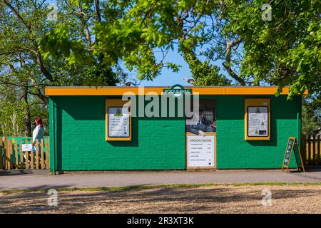
[[[244,99],[270,98],[271,140],[244,140]],[[300,138],[300,97],[285,95],[217,97],[217,168],[280,168],[289,137]],[[290,167],[295,167],[292,159]]]

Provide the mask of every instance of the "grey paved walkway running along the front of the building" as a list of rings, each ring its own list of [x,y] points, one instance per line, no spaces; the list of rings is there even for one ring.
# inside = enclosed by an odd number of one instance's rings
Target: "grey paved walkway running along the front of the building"
[[[0,170],[0,190],[248,182],[321,182],[321,168],[305,173],[286,173],[280,170],[115,171],[71,173],[56,176],[49,176],[44,170],[25,174],[19,172],[19,170],[13,172]]]

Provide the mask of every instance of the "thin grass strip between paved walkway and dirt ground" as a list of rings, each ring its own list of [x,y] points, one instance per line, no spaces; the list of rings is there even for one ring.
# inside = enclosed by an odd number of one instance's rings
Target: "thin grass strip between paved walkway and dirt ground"
[[[239,187],[239,186],[318,186],[321,182],[257,182],[257,183],[235,183],[235,184],[200,184],[200,185],[131,185],[126,187],[61,187],[57,188],[58,192],[120,192],[131,190],[149,190],[155,188],[197,188],[210,186],[225,186],[225,187]],[[0,190],[3,194],[14,193],[28,193],[28,192],[48,192],[49,189],[44,190]]]

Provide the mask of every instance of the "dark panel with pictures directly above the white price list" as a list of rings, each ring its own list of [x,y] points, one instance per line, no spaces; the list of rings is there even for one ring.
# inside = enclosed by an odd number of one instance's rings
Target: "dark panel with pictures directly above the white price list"
[[[195,107],[195,108],[194,108]],[[193,107],[193,116],[186,119],[186,132],[205,136],[216,132],[216,101],[200,99]]]

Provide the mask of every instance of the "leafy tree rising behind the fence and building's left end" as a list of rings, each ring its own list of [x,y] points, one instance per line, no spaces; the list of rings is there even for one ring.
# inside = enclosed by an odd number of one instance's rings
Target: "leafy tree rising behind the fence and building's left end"
[[[44,58],[39,48],[39,38],[46,36],[51,28],[59,28],[61,22],[72,28],[69,38],[78,40],[77,45],[91,48],[96,42],[90,34],[93,17],[88,17],[89,9],[68,4],[58,5],[57,21],[50,21],[48,14],[52,9],[46,1],[0,0],[0,86],[1,88],[17,88],[14,99],[20,101],[20,112],[16,115],[17,123],[24,125],[24,135],[31,136],[31,122],[48,105],[44,95],[46,86],[115,86],[126,81],[126,73],[120,69],[112,69],[101,61],[100,56],[86,53],[86,63],[69,64],[71,58]],[[47,43],[49,46],[51,43]],[[81,55],[81,53],[78,53]],[[8,98],[11,99],[11,98]],[[2,96],[0,103],[10,102]],[[34,105],[34,103],[42,103]],[[6,105],[4,105],[6,106]],[[36,108],[36,109],[35,109]],[[16,110],[16,113],[19,113]],[[38,113],[38,114],[37,114]],[[11,117],[6,113],[7,118]],[[44,118],[48,113],[43,113]],[[24,120],[24,121],[22,121]],[[6,130],[8,132],[8,130]],[[4,132],[3,132],[4,133]]]

